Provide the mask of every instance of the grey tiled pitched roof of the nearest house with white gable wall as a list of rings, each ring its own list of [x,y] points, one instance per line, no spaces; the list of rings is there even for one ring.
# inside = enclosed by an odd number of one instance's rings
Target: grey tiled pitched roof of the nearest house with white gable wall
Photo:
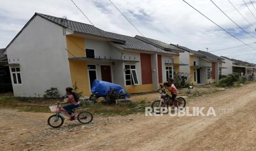
[[[89,25],[89,24],[85,24],[83,22],[77,22],[77,21],[67,20],[67,19],[63,19],[63,18],[57,18],[55,16],[45,15],[45,14],[41,14],[41,13],[35,13],[35,15],[32,16],[32,18],[26,23],[26,25],[21,29],[21,31],[17,34],[17,36],[14,37],[14,39],[19,36],[19,34],[24,30],[24,28],[26,26],[28,26],[29,22],[32,19],[34,19],[36,15],[39,15],[42,18],[44,18],[48,21],[51,21],[59,26],[69,28],[70,30],[72,30],[74,32],[91,34],[94,36],[108,38],[111,42],[114,42],[115,44],[119,45],[120,47],[123,47],[126,49],[145,50],[145,51],[152,51],[152,52],[157,52],[157,53],[177,55],[177,53],[174,53],[170,50],[161,49],[152,44],[146,43],[143,40],[139,40],[138,38],[124,36],[122,34],[117,34],[117,33],[112,33],[112,32],[106,32],[104,30],[101,30],[100,28],[97,28],[97,27]],[[12,42],[13,42],[13,40],[12,40]],[[9,45],[12,42],[10,42],[8,44],[7,48],[9,47]]]

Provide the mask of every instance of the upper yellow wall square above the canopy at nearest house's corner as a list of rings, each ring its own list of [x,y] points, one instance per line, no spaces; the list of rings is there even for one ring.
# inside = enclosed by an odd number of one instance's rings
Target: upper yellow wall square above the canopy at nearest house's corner
[[[75,57],[85,57],[85,39],[74,36],[67,36],[67,49]],[[68,53],[68,57],[74,57]]]

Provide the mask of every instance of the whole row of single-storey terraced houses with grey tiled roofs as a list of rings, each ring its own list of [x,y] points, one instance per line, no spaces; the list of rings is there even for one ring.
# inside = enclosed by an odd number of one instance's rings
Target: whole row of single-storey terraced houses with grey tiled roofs
[[[225,57],[205,51],[39,13],[4,54],[15,96],[42,96],[52,87],[64,95],[75,83],[89,95],[95,79],[122,85],[130,93],[146,92],[177,74],[194,84],[214,83],[228,69]],[[255,72],[255,66],[250,69]]]

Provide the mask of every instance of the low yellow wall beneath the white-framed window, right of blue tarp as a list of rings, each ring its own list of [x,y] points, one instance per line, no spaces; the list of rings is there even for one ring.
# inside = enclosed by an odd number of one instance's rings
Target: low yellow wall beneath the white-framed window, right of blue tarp
[[[124,86],[127,92],[133,94],[138,92],[149,92],[154,90],[153,84],[143,84],[143,85],[128,85]]]

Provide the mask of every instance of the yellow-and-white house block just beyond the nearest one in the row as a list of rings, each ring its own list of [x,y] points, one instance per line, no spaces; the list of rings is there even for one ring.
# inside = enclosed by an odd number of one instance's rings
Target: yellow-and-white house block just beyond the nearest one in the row
[[[180,72],[184,76],[189,77],[190,82],[194,84],[207,84],[219,80],[222,61],[219,56],[205,51],[195,51],[181,45],[171,45],[185,50],[185,53],[179,55],[179,61],[187,66],[181,66]]]

